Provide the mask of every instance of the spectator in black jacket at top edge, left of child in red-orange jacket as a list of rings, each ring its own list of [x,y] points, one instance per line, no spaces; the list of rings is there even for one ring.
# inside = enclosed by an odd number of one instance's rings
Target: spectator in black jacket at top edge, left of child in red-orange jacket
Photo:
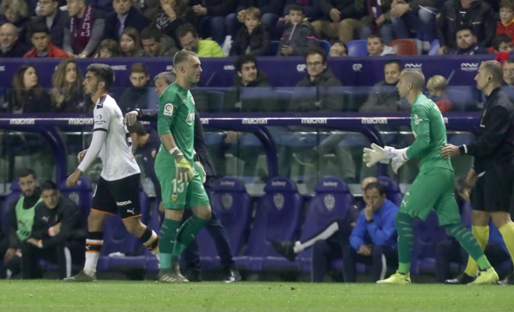
[[[437,18],[439,54],[457,49],[456,34],[464,25],[471,26],[471,32],[481,47],[489,47],[494,38],[494,11],[481,0],[447,1]],[[475,53],[476,54],[476,53]]]

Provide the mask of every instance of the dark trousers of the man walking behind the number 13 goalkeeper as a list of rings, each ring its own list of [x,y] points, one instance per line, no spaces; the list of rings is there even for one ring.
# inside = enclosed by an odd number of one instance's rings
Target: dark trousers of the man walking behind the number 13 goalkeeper
[[[208,195],[212,192],[212,185],[214,184],[213,177],[207,177],[206,182],[204,183],[205,190]],[[184,211],[184,216],[182,220],[187,220],[192,216],[191,209],[186,209]],[[212,237],[214,244],[216,245],[216,250],[218,251],[218,256],[221,259],[222,265],[225,268],[229,268],[235,265],[234,260],[232,259],[232,250],[230,249],[230,243],[227,236],[227,231],[223,227],[221,221],[216,216],[214,211],[211,211],[211,220],[206,223],[205,229],[209,232],[209,235]],[[198,245],[198,239],[195,239],[191,244],[184,250],[182,253],[183,262],[185,262],[185,268],[188,270],[200,270],[200,247]]]

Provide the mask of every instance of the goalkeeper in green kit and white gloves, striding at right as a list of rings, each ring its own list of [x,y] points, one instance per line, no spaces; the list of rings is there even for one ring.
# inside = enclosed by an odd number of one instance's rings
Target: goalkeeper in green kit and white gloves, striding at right
[[[412,220],[426,220],[432,208],[437,213],[440,226],[453,236],[469,255],[478,263],[481,273],[471,284],[488,284],[498,281],[498,274],[491,266],[478,242],[461,222],[457,203],[453,195],[455,175],[448,159],[440,150],[446,144],[446,128],[443,115],[434,102],[421,90],[425,76],[419,70],[403,70],[396,84],[402,99],[412,105],[411,128],[416,138],[414,143],[403,149],[372,144],[365,148],[363,160],[368,167],[378,161],[391,161],[394,172],[409,159],[419,157],[419,174],[405,193],[396,215],[398,231],[398,270],[391,277],[377,281],[379,284],[409,284],[411,251],[414,243]]]

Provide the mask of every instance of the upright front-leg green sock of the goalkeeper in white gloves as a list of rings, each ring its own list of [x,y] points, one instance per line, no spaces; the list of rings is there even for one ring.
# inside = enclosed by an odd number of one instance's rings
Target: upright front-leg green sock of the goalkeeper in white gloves
[[[412,217],[407,213],[398,212],[395,222],[398,231],[398,272],[407,274],[411,268],[411,252],[414,244]]]

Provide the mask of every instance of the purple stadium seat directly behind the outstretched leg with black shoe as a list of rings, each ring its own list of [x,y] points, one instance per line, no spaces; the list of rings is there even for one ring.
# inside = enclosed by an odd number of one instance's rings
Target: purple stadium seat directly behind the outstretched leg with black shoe
[[[304,242],[327,225],[333,218],[343,218],[348,207],[353,205],[353,197],[346,184],[334,177],[321,180],[314,188],[316,195],[310,201],[305,214],[300,241]],[[311,248],[302,251],[297,257],[303,271],[310,271]],[[284,259],[285,260],[285,259]],[[287,261],[287,260],[286,260]]]

